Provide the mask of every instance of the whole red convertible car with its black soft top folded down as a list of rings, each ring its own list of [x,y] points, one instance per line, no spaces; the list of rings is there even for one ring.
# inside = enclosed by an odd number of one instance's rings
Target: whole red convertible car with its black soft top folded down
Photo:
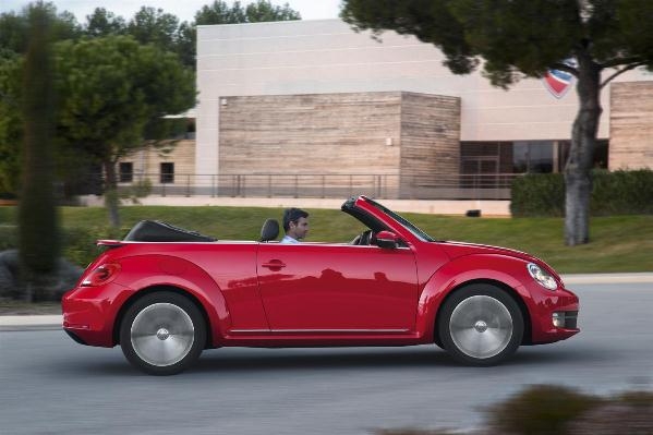
[[[146,373],[170,375],[204,349],[436,343],[493,365],[520,345],[577,334],[578,298],[544,262],[504,247],[434,240],[359,196],[342,212],[368,230],[351,243],[221,241],[141,221],[62,300],[63,328],[120,345]]]

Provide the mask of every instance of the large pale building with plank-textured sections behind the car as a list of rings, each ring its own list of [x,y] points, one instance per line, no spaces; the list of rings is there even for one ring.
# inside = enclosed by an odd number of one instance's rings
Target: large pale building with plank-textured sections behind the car
[[[563,170],[572,77],[552,72],[506,90],[480,72],[454,75],[443,60],[412,36],[374,39],[340,20],[198,26],[194,152],[180,148],[167,168],[194,174],[198,192],[269,194],[324,177],[389,195]],[[602,105],[595,165],[653,168],[653,74],[621,74]]]

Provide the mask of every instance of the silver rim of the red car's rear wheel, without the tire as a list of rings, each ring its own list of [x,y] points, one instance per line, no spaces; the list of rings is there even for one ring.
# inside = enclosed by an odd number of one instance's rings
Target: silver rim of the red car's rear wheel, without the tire
[[[134,351],[144,362],[159,367],[183,360],[194,340],[195,328],[191,316],[171,303],[148,305],[132,323]]]

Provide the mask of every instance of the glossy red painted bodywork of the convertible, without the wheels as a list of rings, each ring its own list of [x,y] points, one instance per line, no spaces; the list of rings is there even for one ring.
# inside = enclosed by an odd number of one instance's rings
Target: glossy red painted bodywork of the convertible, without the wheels
[[[456,242],[424,241],[364,196],[348,213],[397,234],[392,249],[338,243],[102,242],[109,246],[62,300],[63,327],[89,346],[118,343],[121,315],[135,299],[168,289],[189,295],[208,325],[208,348],[223,346],[406,346],[437,340],[443,302],[471,282],[492,282],[523,310],[527,343],[566,339],[554,312],[578,311],[558,275],[528,254]],[[344,207],[344,206],[343,206]],[[344,209],[344,208],[343,208]],[[558,288],[539,285],[535,263]],[[107,283],[84,281],[105,264]]]

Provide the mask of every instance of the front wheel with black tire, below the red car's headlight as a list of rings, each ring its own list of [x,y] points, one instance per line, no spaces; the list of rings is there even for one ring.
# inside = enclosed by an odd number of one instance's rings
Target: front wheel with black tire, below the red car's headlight
[[[517,302],[491,285],[470,285],[455,291],[437,321],[443,347],[467,365],[495,365],[512,355],[524,325]]]

